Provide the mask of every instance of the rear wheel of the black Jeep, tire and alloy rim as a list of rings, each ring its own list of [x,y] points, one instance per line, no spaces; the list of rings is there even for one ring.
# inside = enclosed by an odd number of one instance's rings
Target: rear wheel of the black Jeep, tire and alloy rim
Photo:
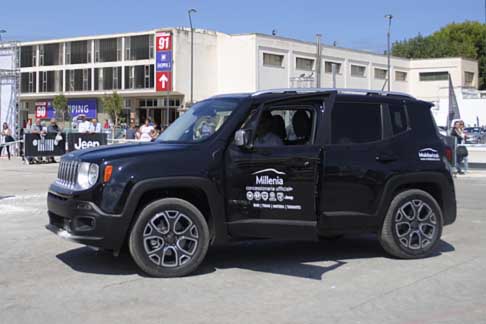
[[[423,190],[406,190],[390,203],[379,240],[394,257],[425,258],[440,242],[443,224],[442,210],[434,197]]]

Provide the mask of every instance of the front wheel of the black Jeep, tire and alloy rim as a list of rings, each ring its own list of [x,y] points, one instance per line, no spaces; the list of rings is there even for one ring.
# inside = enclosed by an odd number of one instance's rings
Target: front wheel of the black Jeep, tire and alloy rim
[[[184,225],[186,229],[178,231]],[[140,269],[162,278],[192,273],[206,256],[208,245],[209,229],[203,214],[178,198],[164,198],[147,205],[128,241],[130,254]],[[167,262],[170,259],[174,260]]]

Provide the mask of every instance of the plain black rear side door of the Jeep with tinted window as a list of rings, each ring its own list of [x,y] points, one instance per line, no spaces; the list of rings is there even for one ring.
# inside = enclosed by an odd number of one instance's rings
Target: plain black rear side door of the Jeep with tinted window
[[[399,160],[387,140],[387,105],[372,98],[337,98],[320,200],[322,230],[372,227],[385,179]],[[376,99],[375,99],[376,100]]]

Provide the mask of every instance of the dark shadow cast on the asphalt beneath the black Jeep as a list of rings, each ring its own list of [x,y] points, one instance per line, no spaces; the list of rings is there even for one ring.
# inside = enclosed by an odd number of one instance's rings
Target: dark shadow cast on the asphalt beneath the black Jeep
[[[441,240],[432,257],[454,251]],[[192,276],[216,270],[246,269],[292,277],[322,280],[327,272],[336,270],[355,259],[388,257],[374,235],[344,237],[335,241],[247,241],[210,248]],[[77,248],[57,255],[75,271],[106,275],[143,274],[128,253],[118,257],[108,252]]]

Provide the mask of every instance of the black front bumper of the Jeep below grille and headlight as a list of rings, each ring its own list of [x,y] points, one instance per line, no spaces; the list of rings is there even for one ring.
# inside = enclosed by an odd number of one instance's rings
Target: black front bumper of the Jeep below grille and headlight
[[[128,221],[122,215],[106,214],[92,202],[54,191],[48,193],[47,210],[46,228],[64,239],[114,251],[123,245]]]

